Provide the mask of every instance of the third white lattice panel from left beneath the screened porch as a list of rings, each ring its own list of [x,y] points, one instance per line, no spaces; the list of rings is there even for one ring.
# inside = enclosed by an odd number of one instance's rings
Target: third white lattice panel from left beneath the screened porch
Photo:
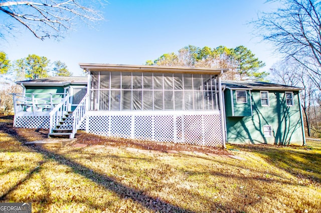
[[[134,138],[152,140],[153,137],[153,116],[135,116],[134,117]]]

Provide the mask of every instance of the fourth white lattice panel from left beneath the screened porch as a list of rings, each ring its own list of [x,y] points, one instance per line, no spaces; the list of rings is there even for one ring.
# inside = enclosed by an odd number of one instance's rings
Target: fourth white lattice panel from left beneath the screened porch
[[[154,140],[174,141],[174,116],[155,115],[154,116]]]

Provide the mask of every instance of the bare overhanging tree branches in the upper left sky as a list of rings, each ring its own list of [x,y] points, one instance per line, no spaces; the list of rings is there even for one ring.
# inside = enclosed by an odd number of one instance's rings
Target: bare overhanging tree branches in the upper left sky
[[[78,20],[86,23],[102,20],[102,13],[94,6],[104,2],[107,3],[105,0],[1,0],[0,12],[9,18],[3,18],[2,21],[7,22],[0,23],[0,27],[11,32],[19,23],[37,38],[59,39],[63,37],[62,32],[69,30]],[[3,37],[4,32],[0,32],[0,36]]]

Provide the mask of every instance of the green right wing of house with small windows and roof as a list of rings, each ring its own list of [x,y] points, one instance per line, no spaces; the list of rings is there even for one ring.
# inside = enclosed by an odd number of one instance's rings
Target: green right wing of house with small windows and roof
[[[227,141],[305,143],[301,88],[247,81],[224,81]]]

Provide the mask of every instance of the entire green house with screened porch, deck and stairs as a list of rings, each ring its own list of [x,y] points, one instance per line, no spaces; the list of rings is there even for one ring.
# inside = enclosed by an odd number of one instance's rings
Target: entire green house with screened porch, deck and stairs
[[[49,136],[74,137],[78,129],[85,129],[208,146],[225,146],[226,141],[303,143],[300,88],[221,82],[227,69],[220,68],[93,63],[80,67],[87,77],[17,82],[24,93],[14,94],[14,125],[49,128]]]

